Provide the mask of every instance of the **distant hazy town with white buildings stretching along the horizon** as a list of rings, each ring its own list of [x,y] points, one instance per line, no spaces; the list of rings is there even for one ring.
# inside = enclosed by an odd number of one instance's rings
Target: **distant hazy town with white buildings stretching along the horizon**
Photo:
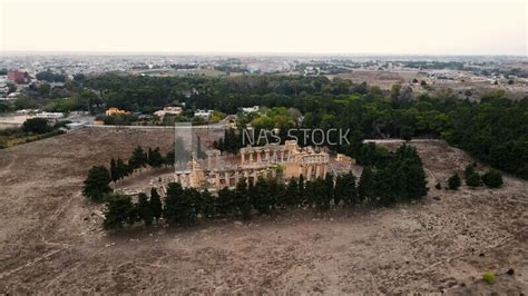
[[[382,89],[394,85],[403,92],[433,93],[449,89],[460,98],[477,100],[490,90],[507,91],[511,98],[528,95],[526,57],[488,56],[355,56],[355,57],[222,57],[162,55],[6,55],[0,60],[0,128],[21,125],[30,117],[69,120],[71,126],[105,124],[104,116],[134,114],[139,125],[164,122],[165,116],[179,116],[185,103],[163,109],[118,110],[114,106],[94,110],[59,110],[57,100],[72,93],[70,81],[102,73],[148,77],[237,77],[286,75],[327,77],[366,82]],[[87,90],[94,91],[89,87]],[[186,97],[198,90],[188,89]],[[100,93],[97,93],[100,96]],[[27,108],[35,107],[35,108]],[[91,111],[91,112],[89,112]],[[214,110],[185,112],[187,120],[211,119]],[[216,117],[218,119],[218,117]],[[108,120],[107,124],[111,120]],[[150,124],[148,124],[150,122]],[[156,121],[154,121],[156,122]],[[127,124],[131,124],[127,121]]]

